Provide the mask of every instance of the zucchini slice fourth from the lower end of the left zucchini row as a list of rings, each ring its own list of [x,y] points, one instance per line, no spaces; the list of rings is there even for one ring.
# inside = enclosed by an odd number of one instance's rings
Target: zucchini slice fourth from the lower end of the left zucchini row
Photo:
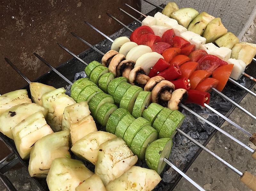
[[[116,126],[115,135],[123,138],[126,129],[131,125],[134,120],[135,118],[131,114],[124,115],[124,117],[119,121],[118,125]]]

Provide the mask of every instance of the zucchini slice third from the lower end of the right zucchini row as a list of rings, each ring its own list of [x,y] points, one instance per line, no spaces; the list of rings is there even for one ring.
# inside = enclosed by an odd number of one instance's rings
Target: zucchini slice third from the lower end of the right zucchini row
[[[142,117],[151,122],[151,125],[153,125],[156,116],[159,114],[159,112],[163,109],[163,106],[160,106],[157,103],[151,103],[147,109],[145,109],[142,112]]]

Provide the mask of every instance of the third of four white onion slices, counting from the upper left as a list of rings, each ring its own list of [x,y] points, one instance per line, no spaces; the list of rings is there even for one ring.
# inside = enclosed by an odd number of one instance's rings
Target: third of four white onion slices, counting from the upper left
[[[148,52],[152,52],[152,49],[146,45],[139,45],[134,48],[132,48],[126,55],[126,60],[133,60],[134,62],[137,61],[137,59]]]

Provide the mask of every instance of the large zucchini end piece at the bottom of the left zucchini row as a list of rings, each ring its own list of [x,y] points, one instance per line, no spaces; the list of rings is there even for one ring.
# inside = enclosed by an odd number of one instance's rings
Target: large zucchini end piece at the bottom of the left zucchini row
[[[171,138],[157,139],[156,141],[150,143],[145,153],[148,167],[155,170],[158,174],[161,174],[166,165],[164,158],[169,158],[171,150]]]

